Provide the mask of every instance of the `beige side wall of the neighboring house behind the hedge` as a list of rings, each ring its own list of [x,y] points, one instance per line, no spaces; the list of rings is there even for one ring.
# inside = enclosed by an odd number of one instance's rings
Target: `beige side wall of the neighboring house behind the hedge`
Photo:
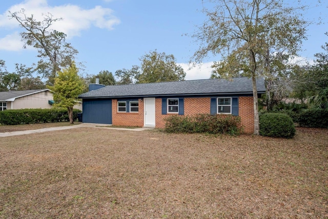
[[[49,104],[49,101],[52,100],[52,93],[43,91],[16,98],[12,103],[12,108],[8,109],[50,109],[52,105]]]

